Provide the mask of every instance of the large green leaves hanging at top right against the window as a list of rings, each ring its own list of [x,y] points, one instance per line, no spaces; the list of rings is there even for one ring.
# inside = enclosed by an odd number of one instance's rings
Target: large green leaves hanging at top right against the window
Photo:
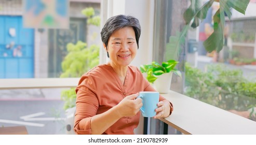
[[[230,19],[232,12],[235,9],[240,13],[245,14],[246,8],[250,0],[210,0],[201,6],[200,0],[191,0],[191,5],[183,13],[183,18],[186,25],[178,36],[171,36],[170,42],[166,47],[166,58],[177,60],[181,52],[181,45],[185,39],[188,27],[193,28],[199,26],[200,21],[206,18],[209,8],[213,2],[219,2],[220,8],[213,17],[213,33],[204,41],[204,47],[208,52],[216,50],[220,52],[224,45],[224,25],[225,14]],[[171,57],[170,57],[171,56]]]

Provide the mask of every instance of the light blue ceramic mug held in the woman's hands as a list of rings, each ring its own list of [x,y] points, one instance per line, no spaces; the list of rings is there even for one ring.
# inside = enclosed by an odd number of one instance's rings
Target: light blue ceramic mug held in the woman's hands
[[[156,115],[155,109],[159,101],[159,92],[140,92],[138,98],[142,99],[143,106],[140,110],[143,117],[154,117]]]

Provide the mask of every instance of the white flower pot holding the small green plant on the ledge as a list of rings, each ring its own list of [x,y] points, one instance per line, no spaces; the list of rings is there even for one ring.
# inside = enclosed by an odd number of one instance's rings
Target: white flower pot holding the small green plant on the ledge
[[[171,88],[172,72],[160,75],[155,81],[155,89],[159,93],[169,93]]]

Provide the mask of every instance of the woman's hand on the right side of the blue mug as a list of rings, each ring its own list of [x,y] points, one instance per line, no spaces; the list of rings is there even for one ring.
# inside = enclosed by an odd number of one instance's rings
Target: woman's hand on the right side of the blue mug
[[[168,100],[159,101],[157,107],[154,119],[166,118],[170,115],[170,103]]]

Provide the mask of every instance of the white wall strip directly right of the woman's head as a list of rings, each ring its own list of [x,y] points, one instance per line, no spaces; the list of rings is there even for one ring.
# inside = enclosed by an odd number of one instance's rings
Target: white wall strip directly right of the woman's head
[[[125,14],[138,18],[141,24],[141,37],[137,57],[131,63],[132,65],[139,67],[141,64],[152,62],[154,1],[127,0],[125,8]]]

